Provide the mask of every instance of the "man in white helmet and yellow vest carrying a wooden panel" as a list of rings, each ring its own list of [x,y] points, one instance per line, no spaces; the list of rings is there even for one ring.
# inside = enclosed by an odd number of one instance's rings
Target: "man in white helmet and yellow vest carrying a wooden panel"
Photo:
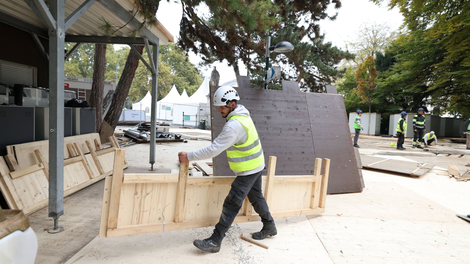
[[[273,217],[261,192],[261,174],[265,168],[263,148],[250,113],[243,105],[237,104],[239,99],[233,87],[220,86],[214,93],[214,106],[218,106],[219,113],[227,119],[222,132],[209,147],[178,153],[180,163],[184,163],[209,159],[227,150],[228,164],[236,176],[222,206],[219,223],[215,225],[211,237],[193,242],[197,248],[204,251],[220,250],[222,239],[247,195],[263,222],[261,231],[253,233],[252,237],[260,240],[277,234]]]

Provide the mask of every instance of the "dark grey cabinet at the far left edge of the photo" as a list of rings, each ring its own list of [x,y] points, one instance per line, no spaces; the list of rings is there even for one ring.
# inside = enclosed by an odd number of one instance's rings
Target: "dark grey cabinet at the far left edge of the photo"
[[[0,106],[0,155],[6,146],[34,141],[34,107]]]

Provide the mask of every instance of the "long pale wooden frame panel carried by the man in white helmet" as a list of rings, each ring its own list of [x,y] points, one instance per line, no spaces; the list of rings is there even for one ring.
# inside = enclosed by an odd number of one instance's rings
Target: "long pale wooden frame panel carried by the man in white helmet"
[[[116,150],[118,152],[118,149]],[[124,151],[124,150],[119,150]],[[315,175],[275,176],[276,157],[269,157],[263,176],[266,202],[274,218],[325,211],[329,159],[316,160]],[[112,183],[105,183],[100,237],[164,232],[217,224],[235,177],[188,177],[188,163],[179,174],[124,174],[124,155],[116,155]],[[282,194],[282,195],[274,195]],[[312,203],[314,202],[314,203]],[[105,203],[109,203],[109,208]],[[118,208],[118,211],[117,211]],[[245,199],[234,223],[259,221]]]

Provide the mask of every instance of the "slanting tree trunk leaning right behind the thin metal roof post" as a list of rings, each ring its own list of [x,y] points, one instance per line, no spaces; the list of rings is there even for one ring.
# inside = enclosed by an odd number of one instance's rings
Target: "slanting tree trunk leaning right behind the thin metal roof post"
[[[134,46],[137,51],[142,54],[144,46]],[[113,101],[110,105],[108,113],[104,117],[103,124],[100,130],[100,139],[102,142],[108,142],[108,137],[112,136],[114,129],[118,124],[119,116],[122,112],[122,106],[125,98],[129,94],[129,89],[132,85],[132,80],[135,75],[135,70],[139,65],[139,57],[131,50],[127,56],[124,70],[122,71],[121,78],[119,78],[118,86],[116,87],[116,93],[114,93]]]

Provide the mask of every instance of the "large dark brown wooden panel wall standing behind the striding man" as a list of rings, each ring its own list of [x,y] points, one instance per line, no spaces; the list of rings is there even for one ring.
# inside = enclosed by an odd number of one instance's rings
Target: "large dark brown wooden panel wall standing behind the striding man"
[[[315,158],[329,158],[328,193],[362,191],[343,97],[302,93],[296,82],[282,81],[282,85],[282,91],[252,89],[249,79],[241,76],[236,88],[239,103],[250,111],[257,128],[266,165],[268,156],[277,156],[277,175],[313,175]],[[211,94],[218,87],[211,86]],[[226,120],[215,107],[211,116],[215,139]],[[213,162],[214,176],[233,175],[225,152]]]

